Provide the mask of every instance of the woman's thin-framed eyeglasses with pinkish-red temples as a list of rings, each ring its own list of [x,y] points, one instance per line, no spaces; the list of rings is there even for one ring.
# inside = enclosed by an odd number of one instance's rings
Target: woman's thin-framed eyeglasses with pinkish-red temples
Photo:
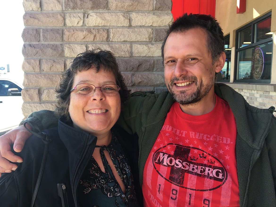
[[[121,89],[119,86],[117,86],[115,84],[104,84],[101,87],[99,87],[99,86],[96,87],[90,83],[79,83],[75,87],[73,87],[70,92],[72,92],[74,89],[76,89],[78,94],[90,95],[95,92],[96,88],[100,88],[100,90],[105,95],[116,95]]]

